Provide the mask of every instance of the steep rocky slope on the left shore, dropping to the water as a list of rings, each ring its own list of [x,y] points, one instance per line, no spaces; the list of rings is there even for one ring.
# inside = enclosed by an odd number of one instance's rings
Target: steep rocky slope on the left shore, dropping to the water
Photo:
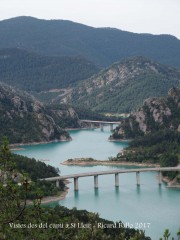
[[[0,84],[0,137],[10,143],[70,140],[52,112],[31,95]]]

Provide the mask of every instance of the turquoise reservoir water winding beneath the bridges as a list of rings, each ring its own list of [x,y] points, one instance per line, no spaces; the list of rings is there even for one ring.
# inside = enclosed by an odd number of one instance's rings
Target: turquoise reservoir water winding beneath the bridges
[[[92,157],[107,160],[128,146],[126,142],[109,142],[109,126],[94,130],[69,131],[70,142],[25,146],[16,153],[34,157],[58,167],[61,175],[83,172],[106,171],[129,166],[65,166],[70,158]],[[79,178],[79,191],[74,192],[73,182],[68,185],[66,198],[60,201],[68,208],[98,212],[100,217],[122,221],[127,226],[142,227],[152,240],[158,240],[168,228],[171,237],[177,238],[180,228],[180,190],[158,185],[157,173],[140,174],[140,187],[136,185],[135,173],[119,174],[119,188],[114,186],[114,175],[99,176],[99,188],[94,189],[94,178]],[[51,204],[54,206],[57,203]],[[129,224],[129,225],[128,225]]]

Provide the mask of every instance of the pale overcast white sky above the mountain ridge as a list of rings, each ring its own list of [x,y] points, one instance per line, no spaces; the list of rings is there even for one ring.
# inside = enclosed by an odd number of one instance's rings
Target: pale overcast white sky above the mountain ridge
[[[180,39],[180,0],[0,0],[0,20],[16,16],[72,20]]]

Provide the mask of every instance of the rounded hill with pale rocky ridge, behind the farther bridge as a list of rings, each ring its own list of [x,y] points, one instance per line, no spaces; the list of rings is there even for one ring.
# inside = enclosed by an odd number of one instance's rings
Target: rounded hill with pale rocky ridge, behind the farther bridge
[[[113,64],[57,99],[98,111],[130,112],[144,99],[166,95],[179,85],[180,70],[134,57]]]

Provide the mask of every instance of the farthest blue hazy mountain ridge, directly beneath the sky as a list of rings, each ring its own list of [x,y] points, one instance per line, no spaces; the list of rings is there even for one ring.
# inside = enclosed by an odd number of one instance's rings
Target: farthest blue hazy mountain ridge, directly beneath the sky
[[[99,66],[139,55],[180,66],[180,40],[171,35],[136,34],[32,17],[0,21],[0,33],[0,48],[18,47],[50,56],[78,55]]]

